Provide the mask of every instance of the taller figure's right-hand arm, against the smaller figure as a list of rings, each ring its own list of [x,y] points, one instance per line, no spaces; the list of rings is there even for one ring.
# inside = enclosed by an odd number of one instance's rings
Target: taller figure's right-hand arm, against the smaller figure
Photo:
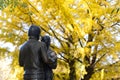
[[[40,51],[41,51],[41,56],[42,56],[43,61],[45,63],[50,63],[48,54],[47,54],[47,47],[46,47],[46,44],[43,42],[41,42]]]

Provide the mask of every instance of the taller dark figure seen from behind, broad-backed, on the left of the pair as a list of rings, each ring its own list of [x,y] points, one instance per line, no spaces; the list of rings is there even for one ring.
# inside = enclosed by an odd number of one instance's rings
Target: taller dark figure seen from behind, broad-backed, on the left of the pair
[[[41,30],[31,25],[28,31],[29,40],[26,41],[19,52],[19,65],[24,68],[24,80],[45,80],[44,63],[49,63],[47,47],[39,42]]]

